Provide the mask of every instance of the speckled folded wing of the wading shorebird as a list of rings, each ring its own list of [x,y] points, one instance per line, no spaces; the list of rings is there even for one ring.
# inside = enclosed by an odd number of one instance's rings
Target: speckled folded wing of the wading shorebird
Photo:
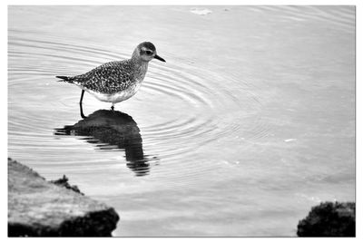
[[[132,66],[127,61],[103,63],[88,73],[74,76],[74,83],[103,93],[121,92],[132,82]]]

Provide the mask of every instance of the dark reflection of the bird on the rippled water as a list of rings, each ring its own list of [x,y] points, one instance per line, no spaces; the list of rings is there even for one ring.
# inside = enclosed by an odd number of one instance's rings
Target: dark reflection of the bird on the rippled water
[[[126,165],[136,176],[149,173],[150,160],[142,150],[142,136],[132,117],[121,111],[94,111],[85,119],[63,129],[55,129],[55,135],[88,136],[83,140],[96,145],[101,150],[122,149],[125,151]]]

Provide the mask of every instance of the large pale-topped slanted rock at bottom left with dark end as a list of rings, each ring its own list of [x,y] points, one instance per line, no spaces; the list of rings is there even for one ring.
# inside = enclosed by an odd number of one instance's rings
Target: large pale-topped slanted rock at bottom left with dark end
[[[118,220],[113,208],[8,160],[9,237],[109,237]]]

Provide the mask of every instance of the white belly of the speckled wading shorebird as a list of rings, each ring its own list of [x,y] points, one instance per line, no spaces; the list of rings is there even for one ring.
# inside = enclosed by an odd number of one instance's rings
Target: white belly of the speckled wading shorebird
[[[141,85],[142,82],[136,82],[136,84],[132,85],[127,90],[124,90],[123,92],[116,92],[113,94],[94,92],[88,89],[84,89],[84,91],[93,94],[93,96],[96,97],[99,101],[116,103],[116,102],[123,102],[131,98],[137,91],[139,91]]]

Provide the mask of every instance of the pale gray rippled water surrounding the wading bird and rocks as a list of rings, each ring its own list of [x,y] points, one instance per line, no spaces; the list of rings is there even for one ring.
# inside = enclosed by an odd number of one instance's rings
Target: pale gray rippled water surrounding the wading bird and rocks
[[[113,206],[113,236],[290,237],[320,201],[355,201],[353,6],[8,15],[8,155]],[[116,116],[85,93],[99,129],[76,131],[81,90],[54,76],[129,58],[143,41],[166,63],[150,63]]]

